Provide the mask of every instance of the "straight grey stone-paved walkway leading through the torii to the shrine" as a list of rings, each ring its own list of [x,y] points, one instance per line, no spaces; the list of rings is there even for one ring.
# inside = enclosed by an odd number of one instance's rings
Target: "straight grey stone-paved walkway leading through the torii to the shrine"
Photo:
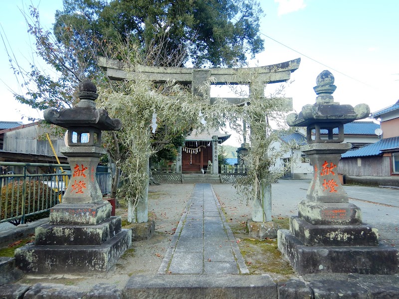
[[[210,184],[196,184],[158,274],[248,273]]]

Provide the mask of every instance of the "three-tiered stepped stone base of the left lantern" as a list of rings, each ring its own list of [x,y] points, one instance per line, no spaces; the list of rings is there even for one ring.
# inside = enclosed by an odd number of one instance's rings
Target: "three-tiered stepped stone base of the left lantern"
[[[35,244],[15,251],[15,265],[26,273],[58,274],[108,271],[132,244],[108,201],[61,203],[50,223],[36,228]]]

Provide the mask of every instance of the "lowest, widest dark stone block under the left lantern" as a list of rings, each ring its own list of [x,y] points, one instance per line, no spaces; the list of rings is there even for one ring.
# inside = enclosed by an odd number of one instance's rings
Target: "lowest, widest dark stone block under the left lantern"
[[[15,250],[16,266],[27,273],[82,273],[108,271],[131,246],[130,230],[122,230],[102,245],[35,246]]]

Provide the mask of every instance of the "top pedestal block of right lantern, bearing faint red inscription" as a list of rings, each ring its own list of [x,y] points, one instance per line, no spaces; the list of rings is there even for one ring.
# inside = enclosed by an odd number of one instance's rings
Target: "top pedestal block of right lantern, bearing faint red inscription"
[[[303,200],[298,204],[298,216],[310,224],[362,224],[362,211],[352,203]]]

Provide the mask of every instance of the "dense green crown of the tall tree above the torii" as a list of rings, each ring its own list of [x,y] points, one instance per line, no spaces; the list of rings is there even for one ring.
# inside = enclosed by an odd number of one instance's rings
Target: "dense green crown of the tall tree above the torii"
[[[151,48],[158,53],[147,65],[171,66],[172,55],[183,58],[178,66],[191,61],[197,67],[231,67],[245,63],[246,54],[263,50],[258,32],[263,11],[257,1],[64,0],[63,4],[55,15],[58,41],[69,40],[72,34],[81,48],[93,48],[96,41],[133,39],[144,52]]]

